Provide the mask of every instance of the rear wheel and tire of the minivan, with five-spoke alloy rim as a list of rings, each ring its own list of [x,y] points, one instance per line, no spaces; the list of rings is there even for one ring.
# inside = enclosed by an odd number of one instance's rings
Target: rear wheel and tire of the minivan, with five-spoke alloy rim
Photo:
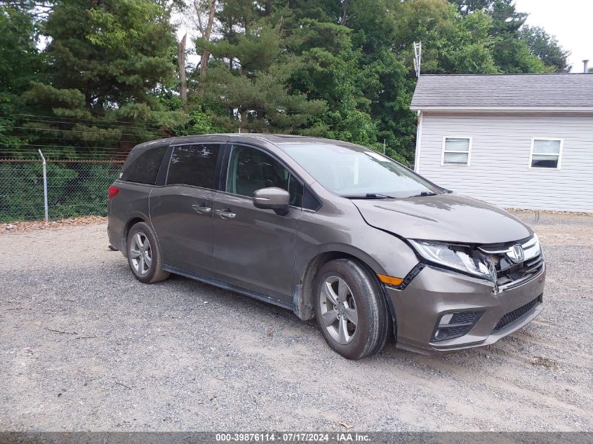
[[[155,283],[169,277],[168,271],[161,268],[163,262],[159,242],[146,222],[138,222],[130,229],[126,256],[133,275],[140,282]]]

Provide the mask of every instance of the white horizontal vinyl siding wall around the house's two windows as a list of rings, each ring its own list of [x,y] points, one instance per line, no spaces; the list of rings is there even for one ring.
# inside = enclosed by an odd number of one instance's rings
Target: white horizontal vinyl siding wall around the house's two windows
[[[443,138],[468,133],[470,166],[442,166]],[[530,168],[533,139],[562,141],[561,169]],[[593,114],[422,112],[418,157],[428,180],[503,208],[593,213]]]

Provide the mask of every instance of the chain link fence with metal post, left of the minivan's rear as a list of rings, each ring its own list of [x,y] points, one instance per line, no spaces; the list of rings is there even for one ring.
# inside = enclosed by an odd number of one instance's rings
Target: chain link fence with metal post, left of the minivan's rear
[[[107,189],[124,161],[47,160],[49,220],[107,215]],[[0,159],[0,222],[43,220],[43,161]]]

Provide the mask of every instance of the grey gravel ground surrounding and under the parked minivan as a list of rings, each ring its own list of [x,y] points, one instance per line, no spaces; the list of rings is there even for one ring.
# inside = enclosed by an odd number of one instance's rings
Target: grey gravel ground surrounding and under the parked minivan
[[[0,236],[0,430],[593,431],[593,217],[533,225],[539,318],[481,349],[357,362],[290,311],[136,281],[105,224]]]

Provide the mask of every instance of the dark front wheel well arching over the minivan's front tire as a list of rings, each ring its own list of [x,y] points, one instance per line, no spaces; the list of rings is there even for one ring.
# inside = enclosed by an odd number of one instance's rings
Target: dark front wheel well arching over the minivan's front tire
[[[321,267],[323,267],[326,263],[336,260],[336,259],[351,259],[359,264],[362,267],[366,268],[371,275],[375,277],[377,283],[379,284],[379,288],[381,289],[383,297],[385,297],[385,305],[387,306],[387,310],[389,311],[390,318],[393,321],[393,335],[397,337],[397,323],[396,323],[396,315],[394,311],[394,307],[392,302],[389,300],[389,296],[385,292],[384,285],[379,281],[375,271],[369,265],[360,260],[358,257],[354,255],[350,255],[349,253],[344,253],[342,251],[330,251],[326,253],[321,253],[314,257],[307,267],[305,267],[305,271],[302,274],[302,278],[298,285],[298,289],[295,291],[295,295],[293,297],[293,310],[295,314],[303,319],[308,320],[314,318],[314,281],[315,276],[317,276],[317,272]]]

